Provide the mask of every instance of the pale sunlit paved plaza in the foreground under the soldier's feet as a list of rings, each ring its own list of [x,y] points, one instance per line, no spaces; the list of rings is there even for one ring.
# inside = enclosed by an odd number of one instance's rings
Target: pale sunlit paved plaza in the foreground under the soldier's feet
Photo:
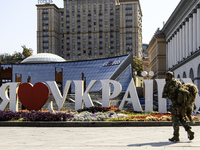
[[[169,142],[172,127],[0,127],[1,150],[199,150],[200,127],[189,141]]]

